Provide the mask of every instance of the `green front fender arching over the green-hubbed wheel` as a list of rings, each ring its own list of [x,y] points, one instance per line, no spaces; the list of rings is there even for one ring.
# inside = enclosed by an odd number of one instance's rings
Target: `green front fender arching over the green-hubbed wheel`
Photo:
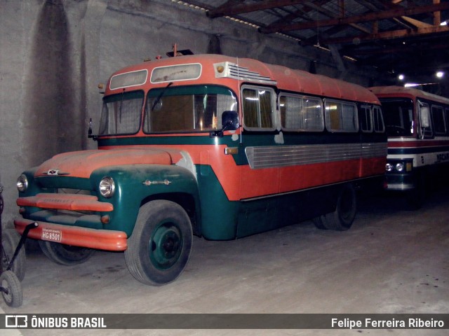
[[[112,177],[115,193],[106,198],[98,190],[101,179]],[[189,170],[175,165],[118,165],[96,169],[91,174],[92,189],[100,202],[114,205],[105,230],[124,231],[130,237],[140,207],[151,200],[173,200],[191,217],[194,232],[201,232],[199,189],[196,178]]]

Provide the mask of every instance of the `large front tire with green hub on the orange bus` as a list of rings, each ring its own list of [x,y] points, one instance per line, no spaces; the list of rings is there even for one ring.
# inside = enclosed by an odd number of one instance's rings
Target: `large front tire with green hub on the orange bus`
[[[192,251],[192,224],[179,204],[155,200],[140,208],[125,251],[129,272],[138,281],[162,286],[184,271]]]

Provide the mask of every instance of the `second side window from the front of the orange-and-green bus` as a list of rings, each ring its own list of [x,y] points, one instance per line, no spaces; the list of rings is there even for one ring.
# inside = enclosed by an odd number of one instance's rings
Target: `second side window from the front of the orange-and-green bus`
[[[324,130],[323,104],[316,97],[282,94],[279,97],[281,127],[287,131]]]

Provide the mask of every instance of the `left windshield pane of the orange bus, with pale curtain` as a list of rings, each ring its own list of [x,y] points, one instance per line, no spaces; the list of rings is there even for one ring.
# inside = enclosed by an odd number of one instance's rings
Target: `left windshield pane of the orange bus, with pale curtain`
[[[98,135],[135,134],[140,127],[143,91],[123,92],[103,98]]]

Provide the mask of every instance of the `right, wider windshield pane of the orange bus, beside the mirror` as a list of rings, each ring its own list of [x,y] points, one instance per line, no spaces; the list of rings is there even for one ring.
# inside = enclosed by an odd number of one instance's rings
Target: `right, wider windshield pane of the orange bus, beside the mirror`
[[[229,89],[192,85],[150,90],[145,103],[143,131],[201,132],[220,130],[225,111],[237,111],[237,99]]]

